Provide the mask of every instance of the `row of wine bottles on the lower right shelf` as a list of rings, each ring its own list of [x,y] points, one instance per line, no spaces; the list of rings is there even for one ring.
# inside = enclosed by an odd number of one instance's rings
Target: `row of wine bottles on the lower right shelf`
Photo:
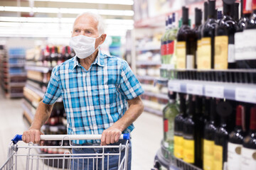
[[[202,169],[255,169],[256,106],[225,99],[169,94],[164,147]]]

